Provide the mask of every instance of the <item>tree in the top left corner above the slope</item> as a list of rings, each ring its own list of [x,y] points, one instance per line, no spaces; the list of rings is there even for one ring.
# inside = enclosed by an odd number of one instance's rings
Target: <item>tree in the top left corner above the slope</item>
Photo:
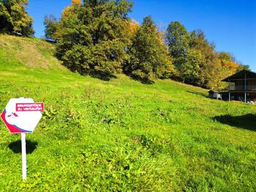
[[[20,33],[24,36],[34,34],[33,19],[26,12],[28,0],[0,1],[0,31]]]

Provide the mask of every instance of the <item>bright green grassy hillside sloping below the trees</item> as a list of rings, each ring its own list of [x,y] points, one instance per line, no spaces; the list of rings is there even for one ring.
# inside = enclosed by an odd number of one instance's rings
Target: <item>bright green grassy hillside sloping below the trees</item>
[[[27,134],[0,124],[0,191],[256,191],[256,108],[207,90],[73,74],[54,45],[0,36],[0,110],[31,97],[46,110]],[[235,118],[236,117],[236,118]]]

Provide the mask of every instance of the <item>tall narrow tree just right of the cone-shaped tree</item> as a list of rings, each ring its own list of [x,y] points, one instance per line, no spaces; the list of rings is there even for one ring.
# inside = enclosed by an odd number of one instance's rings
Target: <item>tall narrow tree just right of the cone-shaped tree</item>
[[[166,31],[166,40],[170,54],[173,57],[173,65],[180,72],[188,54],[189,33],[180,22],[171,22]]]

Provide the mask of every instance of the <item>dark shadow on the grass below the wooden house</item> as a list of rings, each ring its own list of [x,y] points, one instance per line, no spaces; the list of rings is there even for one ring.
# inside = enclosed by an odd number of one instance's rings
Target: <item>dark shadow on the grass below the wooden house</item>
[[[220,115],[214,116],[212,119],[220,122],[221,124],[256,131],[256,115],[253,115],[252,113],[241,116]]]

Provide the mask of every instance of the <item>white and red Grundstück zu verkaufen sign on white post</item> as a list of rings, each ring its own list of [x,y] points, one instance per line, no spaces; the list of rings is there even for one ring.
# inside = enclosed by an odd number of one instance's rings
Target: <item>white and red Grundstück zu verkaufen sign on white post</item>
[[[22,180],[27,179],[26,160],[26,133],[32,133],[42,118],[41,111],[44,111],[44,103],[36,103],[33,99],[19,98],[10,99],[1,118],[13,134],[21,134],[22,150]]]

